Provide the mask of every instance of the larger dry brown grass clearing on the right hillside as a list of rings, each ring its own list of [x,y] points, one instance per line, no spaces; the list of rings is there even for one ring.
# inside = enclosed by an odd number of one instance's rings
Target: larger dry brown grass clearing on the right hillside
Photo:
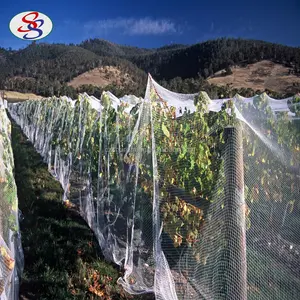
[[[232,75],[209,78],[208,82],[214,85],[231,85],[233,88],[251,88],[253,90],[265,89],[278,93],[300,92],[300,77],[289,74],[290,69],[263,60],[247,67],[232,68]],[[219,74],[220,72],[217,72]]]

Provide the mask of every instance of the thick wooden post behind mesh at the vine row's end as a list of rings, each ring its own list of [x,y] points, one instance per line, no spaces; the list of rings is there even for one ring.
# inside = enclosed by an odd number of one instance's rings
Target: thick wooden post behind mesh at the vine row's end
[[[225,127],[225,299],[247,299],[246,221],[242,128]]]

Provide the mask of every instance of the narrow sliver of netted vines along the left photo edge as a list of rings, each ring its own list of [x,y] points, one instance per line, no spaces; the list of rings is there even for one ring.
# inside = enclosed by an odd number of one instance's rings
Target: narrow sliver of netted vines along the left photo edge
[[[11,124],[0,97],[0,299],[19,299],[23,252],[18,225],[18,199],[11,148]]]

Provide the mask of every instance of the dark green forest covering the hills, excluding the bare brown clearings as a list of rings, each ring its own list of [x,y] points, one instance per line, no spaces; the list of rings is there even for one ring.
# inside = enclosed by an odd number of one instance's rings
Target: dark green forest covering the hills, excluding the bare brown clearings
[[[100,39],[89,39],[79,45],[33,42],[21,50],[0,48],[0,89],[33,92],[42,96],[76,97],[78,92],[101,95],[103,89],[117,96],[143,96],[147,73],[166,88],[190,93],[200,89],[210,96],[244,96],[250,89],[231,90],[211,86],[205,80],[216,71],[230,66],[247,65],[268,59],[283,64],[300,74],[300,48],[256,40],[221,38],[196,45],[169,45],[158,49],[143,49],[117,45]],[[133,79],[131,84],[81,86],[77,90],[67,85],[72,78],[101,66],[116,66]]]

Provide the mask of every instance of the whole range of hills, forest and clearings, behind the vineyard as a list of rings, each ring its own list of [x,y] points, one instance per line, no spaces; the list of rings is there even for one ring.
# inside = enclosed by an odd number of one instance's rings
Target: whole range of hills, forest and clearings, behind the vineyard
[[[250,65],[263,61],[274,67],[254,76]],[[236,67],[231,77],[211,78],[232,66]],[[143,96],[148,72],[167,88],[187,93],[213,89],[212,97],[224,94],[217,86],[227,84],[248,89],[248,94],[264,89],[293,93],[298,91],[300,48],[228,38],[157,49],[100,39],[79,45],[32,43],[18,51],[0,48],[0,89],[5,90],[76,97],[84,91],[99,96],[109,89],[117,96]]]

